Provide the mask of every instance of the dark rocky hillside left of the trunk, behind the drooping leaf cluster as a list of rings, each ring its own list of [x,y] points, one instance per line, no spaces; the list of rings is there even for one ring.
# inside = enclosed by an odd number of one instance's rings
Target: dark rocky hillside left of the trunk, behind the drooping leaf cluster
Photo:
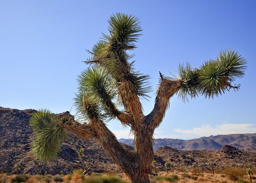
[[[74,167],[81,168],[77,155],[79,148],[85,149],[83,166],[91,165],[98,171],[117,170],[110,157],[95,141],[85,141],[70,134],[62,144],[62,151],[54,161],[39,162],[30,153],[33,132],[29,117],[35,110],[17,110],[0,107],[0,171],[18,174],[59,174],[70,173]]]

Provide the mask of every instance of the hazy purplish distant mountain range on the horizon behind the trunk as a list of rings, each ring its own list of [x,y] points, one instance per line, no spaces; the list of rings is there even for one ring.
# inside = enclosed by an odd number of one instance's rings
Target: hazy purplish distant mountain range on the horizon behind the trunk
[[[119,142],[133,146],[133,139],[119,139]],[[256,133],[229,134],[201,137],[199,139],[155,139],[153,148],[169,146],[177,150],[206,150],[217,151],[223,145],[231,145],[245,151],[256,152]]]

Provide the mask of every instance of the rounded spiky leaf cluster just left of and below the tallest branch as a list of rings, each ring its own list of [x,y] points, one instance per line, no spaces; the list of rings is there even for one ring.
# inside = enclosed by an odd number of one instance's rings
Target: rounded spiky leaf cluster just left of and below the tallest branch
[[[112,118],[118,115],[112,102],[117,95],[117,84],[105,68],[87,68],[78,76],[78,85],[79,93],[76,95],[75,105],[80,113],[88,119]]]

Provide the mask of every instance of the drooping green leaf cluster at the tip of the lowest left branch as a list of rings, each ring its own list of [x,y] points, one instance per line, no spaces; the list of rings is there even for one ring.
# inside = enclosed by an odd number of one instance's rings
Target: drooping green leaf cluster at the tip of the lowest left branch
[[[34,157],[48,161],[57,156],[60,142],[67,138],[67,132],[58,125],[58,120],[49,110],[43,109],[33,113],[30,118],[36,137],[32,142]]]

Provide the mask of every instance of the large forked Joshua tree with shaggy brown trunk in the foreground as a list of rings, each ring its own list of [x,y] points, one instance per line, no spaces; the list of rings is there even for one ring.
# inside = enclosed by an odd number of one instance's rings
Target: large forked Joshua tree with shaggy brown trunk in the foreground
[[[83,123],[68,115],[54,117],[48,110],[36,112],[30,121],[36,133],[32,152],[36,158],[52,159],[69,131],[81,139],[97,139],[132,182],[149,182],[153,133],[165,116],[170,98],[176,94],[184,101],[199,95],[213,98],[237,90],[240,85],[234,81],[244,75],[246,61],[237,52],[226,50],[198,68],[180,65],[175,77],[160,73],[155,106],[145,115],[140,98],[147,98],[151,90],[148,76],[135,71],[132,55],[127,52],[136,48],[140,23],[138,18],[120,13],[108,22],[108,34],[88,51],[91,57],[85,63],[89,67],[78,76],[75,106]],[[124,148],[107,128],[105,122],[111,119],[130,127],[135,151]]]

